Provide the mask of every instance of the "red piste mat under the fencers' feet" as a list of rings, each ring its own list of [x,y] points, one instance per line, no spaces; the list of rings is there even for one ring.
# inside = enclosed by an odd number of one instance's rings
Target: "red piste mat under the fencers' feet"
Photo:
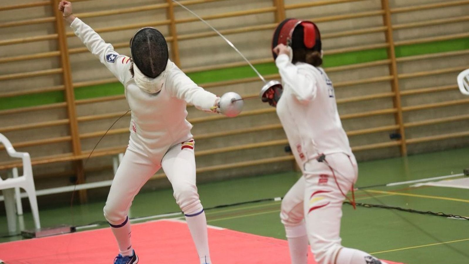
[[[217,227],[210,227],[208,235],[214,264],[290,263],[285,240]],[[132,237],[139,264],[198,263],[183,221],[135,224]],[[0,243],[0,259],[5,264],[111,264],[116,255],[117,243],[109,228]],[[316,264],[312,256],[308,264]]]

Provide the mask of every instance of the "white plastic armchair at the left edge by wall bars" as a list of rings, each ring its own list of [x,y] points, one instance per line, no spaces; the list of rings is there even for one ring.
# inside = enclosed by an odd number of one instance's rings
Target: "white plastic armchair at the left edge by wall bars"
[[[4,190],[3,196],[5,198],[5,206],[7,207],[7,204],[14,203],[11,199],[12,197],[9,195],[10,193],[13,193],[13,192],[9,192],[10,190],[7,190],[7,189],[14,189],[18,187],[23,188],[26,191],[26,194],[28,195],[28,198],[30,201],[31,212],[32,212],[32,216],[34,219],[34,225],[36,226],[37,229],[39,229],[41,228],[41,224],[39,222],[38,201],[36,199],[36,188],[34,186],[34,180],[32,176],[30,155],[29,153],[26,153],[26,152],[15,151],[15,149],[11,145],[8,138],[3,136],[1,133],[0,133],[0,143],[3,143],[10,157],[23,159],[23,175],[22,176],[17,176],[15,178],[8,178],[6,180],[2,180],[0,178],[0,190]],[[9,214],[8,211],[9,210],[7,208],[7,217]],[[10,219],[11,219],[11,216],[10,216]]]

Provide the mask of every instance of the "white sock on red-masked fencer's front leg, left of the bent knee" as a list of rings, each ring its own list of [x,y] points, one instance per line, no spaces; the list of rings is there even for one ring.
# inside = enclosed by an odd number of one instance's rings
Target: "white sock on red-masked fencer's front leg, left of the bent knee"
[[[308,263],[308,235],[304,221],[298,226],[285,226],[291,264]]]

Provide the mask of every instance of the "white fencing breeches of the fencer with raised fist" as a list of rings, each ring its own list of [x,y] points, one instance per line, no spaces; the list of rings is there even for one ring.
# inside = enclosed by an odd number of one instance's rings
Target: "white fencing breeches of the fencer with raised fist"
[[[161,167],[173,186],[174,198],[184,214],[192,215],[203,210],[196,187],[194,141],[172,146],[162,158],[161,165],[155,164],[153,158],[137,151],[132,143],[127,148],[104,207],[104,216],[112,226],[127,221],[134,197]]]

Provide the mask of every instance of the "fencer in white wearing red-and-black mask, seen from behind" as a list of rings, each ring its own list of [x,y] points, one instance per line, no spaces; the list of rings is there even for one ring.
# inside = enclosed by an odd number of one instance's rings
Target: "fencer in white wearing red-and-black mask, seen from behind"
[[[303,173],[281,203],[291,263],[307,263],[309,242],[318,264],[385,264],[341,245],[342,202],[357,180],[358,168],[340,122],[332,82],[320,67],[317,26],[287,19],[277,28],[272,47],[283,91],[280,99],[271,96],[269,103],[276,105]]]

